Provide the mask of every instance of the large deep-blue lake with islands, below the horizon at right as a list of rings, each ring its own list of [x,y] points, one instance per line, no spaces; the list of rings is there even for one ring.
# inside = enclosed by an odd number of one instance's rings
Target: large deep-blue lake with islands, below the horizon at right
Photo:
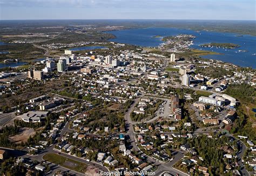
[[[250,35],[243,35],[237,37],[235,33],[224,32],[211,32],[211,31],[193,31],[177,28],[143,28],[143,29],[131,29],[131,30],[118,30],[108,31],[117,38],[110,39],[112,42],[127,43],[132,45],[156,47],[163,43],[161,38],[155,38],[153,36],[176,36],[179,34],[191,34],[196,36],[194,39],[194,45],[192,48],[203,49],[208,51],[215,51],[224,53],[224,55],[207,55],[201,56],[207,59],[218,59],[223,62],[232,63],[242,67],[252,67],[256,69],[256,37]],[[199,45],[205,43],[234,43],[240,45],[235,49],[223,49],[223,48],[202,48]],[[239,52],[238,50],[246,50],[248,52]]]

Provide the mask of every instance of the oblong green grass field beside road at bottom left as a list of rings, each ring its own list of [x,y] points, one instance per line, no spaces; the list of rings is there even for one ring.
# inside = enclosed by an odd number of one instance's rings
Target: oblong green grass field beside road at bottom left
[[[86,164],[63,157],[62,155],[59,154],[48,153],[43,156],[43,159],[49,161],[50,163],[58,164],[62,167],[69,168],[70,170],[73,171],[77,171],[80,173],[86,172]],[[71,166],[70,164],[74,166]]]

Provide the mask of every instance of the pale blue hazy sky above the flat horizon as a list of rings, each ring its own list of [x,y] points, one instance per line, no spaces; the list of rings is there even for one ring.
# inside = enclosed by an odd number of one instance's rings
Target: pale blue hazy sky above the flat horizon
[[[256,20],[255,0],[0,0],[0,19]]]

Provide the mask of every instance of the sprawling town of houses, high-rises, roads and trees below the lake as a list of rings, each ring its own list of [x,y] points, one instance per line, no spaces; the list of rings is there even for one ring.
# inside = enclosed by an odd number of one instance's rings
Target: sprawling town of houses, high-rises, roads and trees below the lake
[[[91,44],[113,47],[66,49]],[[191,43],[177,45],[172,52]],[[255,70],[126,46],[42,45],[60,56],[1,72],[2,168],[29,175],[253,174],[256,136],[246,121]]]

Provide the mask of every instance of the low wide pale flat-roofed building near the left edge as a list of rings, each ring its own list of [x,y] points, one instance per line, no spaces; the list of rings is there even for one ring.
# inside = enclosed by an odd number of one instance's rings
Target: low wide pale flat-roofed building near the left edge
[[[48,111],[29,111],[27,113],[22,114],[22,120],[25,122],[41,122],[42,119],[48,115]]]

